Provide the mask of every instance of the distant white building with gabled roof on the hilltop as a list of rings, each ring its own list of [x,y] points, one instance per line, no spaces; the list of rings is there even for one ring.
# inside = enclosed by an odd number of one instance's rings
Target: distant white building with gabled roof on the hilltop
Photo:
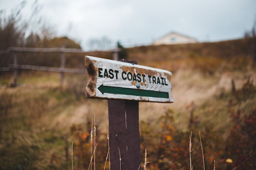
[[[188,44],[188,43],[197,43],[195,38],[179,34],[176,32],[171,32],[153,42],[153,45],[160,44]]]

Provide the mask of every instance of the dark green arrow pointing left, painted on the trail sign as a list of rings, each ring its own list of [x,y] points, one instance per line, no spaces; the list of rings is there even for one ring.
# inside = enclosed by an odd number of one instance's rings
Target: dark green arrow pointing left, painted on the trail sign
[[[166,98],[166,99],[169,98],[168,92],[161,92],[161,91],[103,86],[103,84],[100,85],[98,89],[102,94],[111,93],[111,94],[118,94],[118,95],[132,95],[132,96],[156,97],[156,98]]]

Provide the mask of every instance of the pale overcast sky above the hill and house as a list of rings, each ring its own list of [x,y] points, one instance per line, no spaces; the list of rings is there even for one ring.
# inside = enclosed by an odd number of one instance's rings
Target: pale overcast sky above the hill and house
[[[0,0],[7,12],[20,0]],[[30,16],[34,0],[23,10]],[[124,45],[147,44],[171,31],[199,41],[236,39],[251,29],[256,0],[38,0],[40,15],[59,36],[79,41],[106,36]]]

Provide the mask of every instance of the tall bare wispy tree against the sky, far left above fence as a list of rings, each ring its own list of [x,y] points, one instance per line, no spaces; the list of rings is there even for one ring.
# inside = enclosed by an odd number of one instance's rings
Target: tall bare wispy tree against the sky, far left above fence
[[[47,44],[47,40],[54,37],[53,28],[43,22],[40,16],[42,5],[35,0],[31,6],[31,15],[26,19],[22,15],[26,4],[26,1],[22,1],[10,14],[0,10],[0,50],[9,47],[38,47],[41,41]]]

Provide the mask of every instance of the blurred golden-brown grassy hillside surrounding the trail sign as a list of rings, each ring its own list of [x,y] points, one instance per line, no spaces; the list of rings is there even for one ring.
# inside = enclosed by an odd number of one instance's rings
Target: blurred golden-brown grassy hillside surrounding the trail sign
[[[249,49],[246,39],[127,49],[129,60],[173,73],[174,103],[139,104],[141,159],[144,163],[147,148],[147,168],[189,169],[191,130],[194,169],[203,166],[199,130],[207,169],[213,168],[213,160],[217,169],[255,168],[256,67]],[[84,56],[67,58],[67,67],[83,67]],[[71,169],[74,141],[74,167],[88,169],[94,112],[96,169],[104,168],[108,105],[106,100],[81,97],[86,75],[65,74],[62,89],[57,73],[19,72],[22,86],[16,88],[8,86],[11,73],[0,75],[1,168]]]

